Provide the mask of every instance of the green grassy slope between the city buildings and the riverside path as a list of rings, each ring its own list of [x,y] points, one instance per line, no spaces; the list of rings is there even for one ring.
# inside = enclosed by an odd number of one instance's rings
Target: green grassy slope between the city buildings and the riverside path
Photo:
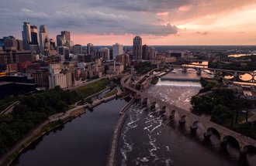
[[[106,88],[109,85],[110,81],[106,79],[102,79],[96,81],[94,83],[89,83],[88,85],[78,87],[75,91],[78,93],[78,96],[85,99],[86,97],[90,97],[94,93],[98,93]]]

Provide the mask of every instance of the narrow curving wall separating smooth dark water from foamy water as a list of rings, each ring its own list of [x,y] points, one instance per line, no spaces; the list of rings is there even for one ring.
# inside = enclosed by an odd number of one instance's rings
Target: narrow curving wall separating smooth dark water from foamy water
[[[122,110],[119,111],[120,117],[113,129],[113,135],[109,144],[109,156],[108,156],[107,166],[116,165],[119,136],[123,128],[123,124],[125,123],[128,117],[128,115],[126,114],[126,110],[128,110],[128,108],[133,104],[133,102],[134,102],[134,99],[131,99],[129,103],[126,103],[126,105],[122,108]]]

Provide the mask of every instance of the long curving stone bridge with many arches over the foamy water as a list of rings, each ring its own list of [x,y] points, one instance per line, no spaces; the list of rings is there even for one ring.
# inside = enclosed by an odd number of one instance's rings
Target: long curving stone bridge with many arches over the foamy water
[[[146,93],[142,93],[139,90],[135,90],[133,87],[126,84],[126,80],[130,80],[129,76],[124,76],[121,80],[123,90],[133,93],[133,97],[142,101],[142,103],[150,103],[150,107],[155,107],[156,104],[161,109],[161,112],[165,113],[165,117],[168,119],[179,117],[179,124],[189,124],[192,130],[197,129],[198,124],[206,129],[204,136],[210,137],[212,132],[218,134],[220,137],[220,142],[226,144],[227,141],[233,141],[237,144],[237,148],[240,151],[240,154],[247,154],[249,149],[256,149],[256,141],[250,137],[246,137],[242,134],[238,134],[233,130],[229,130],[226,127],[222,127],[219,124],[215,124],[212,121],[206,120],[205,118],[199,117],[193,113],[190,113],[182,108],[171,105],[170,103],[164,102],[154,97],[150,97]]]

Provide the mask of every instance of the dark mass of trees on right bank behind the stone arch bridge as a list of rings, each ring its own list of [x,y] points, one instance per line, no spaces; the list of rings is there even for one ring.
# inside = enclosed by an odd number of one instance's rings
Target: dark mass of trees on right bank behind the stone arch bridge
[[[254,104],[225,86],[222,78],[201,79],[201,84],[203,89],[191,100],[193,112],[208,114],[216,124],[256,139],[256,122],[247,121]]]

